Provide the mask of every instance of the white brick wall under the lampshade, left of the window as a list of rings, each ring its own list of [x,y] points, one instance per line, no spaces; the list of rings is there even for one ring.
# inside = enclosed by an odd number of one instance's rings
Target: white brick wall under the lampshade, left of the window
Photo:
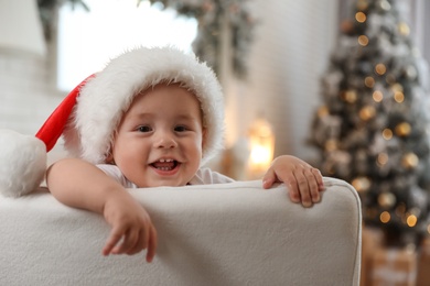
[[[43,57],[0,48],[0,129],[34,135],[61,102],[46,66]],[[58,144],[50,161],[61,152]]]

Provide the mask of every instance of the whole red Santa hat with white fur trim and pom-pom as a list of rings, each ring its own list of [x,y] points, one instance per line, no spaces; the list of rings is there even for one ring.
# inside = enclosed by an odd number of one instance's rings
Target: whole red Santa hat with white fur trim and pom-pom
[[[39,187],[46,152],[61,135],[72,156],[105,163],[114,131],[133,98],[160,82],[180,82],[198,99],[206,129],[202,165],[207,163],[223,146],[224,102],[215,74],[195,55],[178,48],[139,47],[114,58],[105,69],[80,82],[35,138],[0,132],[0,193],[18,197]]]

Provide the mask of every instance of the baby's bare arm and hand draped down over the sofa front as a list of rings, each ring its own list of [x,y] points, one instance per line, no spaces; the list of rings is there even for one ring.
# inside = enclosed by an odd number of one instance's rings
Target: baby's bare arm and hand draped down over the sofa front
[[[155,228],[143,207],[115,179],[85,161],[65,158],[47,169],[46,183],[61,202],[105,217],[111,231],[104,255],[136,254],[147,249],[147,261],[152,261]]]

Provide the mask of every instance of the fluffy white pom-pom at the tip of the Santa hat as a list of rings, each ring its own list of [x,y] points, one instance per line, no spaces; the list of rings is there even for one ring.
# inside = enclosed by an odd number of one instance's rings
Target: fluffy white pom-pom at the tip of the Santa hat
[[[0,130],[0,194],[20,197],[42,183],[46,146],[35,136]]]

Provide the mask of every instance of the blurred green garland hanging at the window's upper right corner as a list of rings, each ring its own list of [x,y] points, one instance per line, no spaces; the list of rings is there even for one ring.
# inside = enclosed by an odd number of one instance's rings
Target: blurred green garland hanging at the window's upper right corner
[[[147,0],[138,0],[139,3]],[[246,57],[252,42],[255,21],[245,2],[247,0],[149,0],[162,4],[162,9],[174,9],[180,15],[197,20],[197,36],[193,42],[195,54],[205,61],[215,73],[219,73],[222,26],[228,21],[230,29],[232,68],[238,78],[247,75]]]

